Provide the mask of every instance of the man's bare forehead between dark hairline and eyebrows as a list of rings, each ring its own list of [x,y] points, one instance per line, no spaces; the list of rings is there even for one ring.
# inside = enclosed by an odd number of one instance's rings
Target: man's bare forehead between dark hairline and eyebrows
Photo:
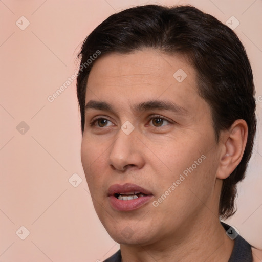
[[[124,108],[133,101],[172,100],[192,110],[205,102],[198,95],[196,73],[183,56],[145,49],[111,53],[94,61],[85,102],[107,101]]]

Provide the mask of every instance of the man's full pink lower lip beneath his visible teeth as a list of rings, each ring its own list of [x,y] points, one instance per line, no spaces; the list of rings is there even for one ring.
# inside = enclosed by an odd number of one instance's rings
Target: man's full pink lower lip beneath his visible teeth
[[[111,206],[118,211],[130,211],[138,209],[141,206],[145,205],[151,200],[152,197],[153,195],[145,195],[144,197],[140,197],[137,199],[120,200],[114,197],[114,195],[111,195],[109,197],[109,201]]]

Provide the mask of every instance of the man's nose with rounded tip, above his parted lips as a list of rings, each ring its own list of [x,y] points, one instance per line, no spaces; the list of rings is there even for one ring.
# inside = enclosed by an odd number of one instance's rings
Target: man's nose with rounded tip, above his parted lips
[[[128,168],[140,169],[145,164],[144,146],[135,130],[127,135],[120,129],[111,146],[108,164],[119,171],[126,171]]]

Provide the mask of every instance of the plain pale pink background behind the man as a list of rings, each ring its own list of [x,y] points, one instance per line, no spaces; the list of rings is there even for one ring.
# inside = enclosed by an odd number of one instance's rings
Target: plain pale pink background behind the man
[[[103,261],[119,249],[94,211],[80,160],[75,81],[48,101],[78,67],[81,42],[106,17],[127,7],[192,4],[235,32],[250,58],[258,133],[237,213],[227,223],[262,248],[262,2],[246,1],[0,1],[1,136],[0,261]],[[20,18],[25,16],[27,20]],[[16,25],[16,21],[17,24]],[[18,124],[26,122],[25,124]],[[18,126],[18,127],[17,127]],[[18,129],[18,130],[17,130]],[[24,132],[24,134],[23,134]],[[21,134],[22,133],[22,134]],[[69,183],[73,177],[74,187]],[[30,234],[24,239],[27,230]],[[262,257],[260,258],[262,259]]]

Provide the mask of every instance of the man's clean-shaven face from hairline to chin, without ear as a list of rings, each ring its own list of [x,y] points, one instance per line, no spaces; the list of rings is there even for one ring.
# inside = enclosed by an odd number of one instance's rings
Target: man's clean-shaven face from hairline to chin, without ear
[[[116,242],[179,239],[213,215],[220,148],[183,57],[150,49],[101,57],[85,103],[82,165],[95,210]]]

